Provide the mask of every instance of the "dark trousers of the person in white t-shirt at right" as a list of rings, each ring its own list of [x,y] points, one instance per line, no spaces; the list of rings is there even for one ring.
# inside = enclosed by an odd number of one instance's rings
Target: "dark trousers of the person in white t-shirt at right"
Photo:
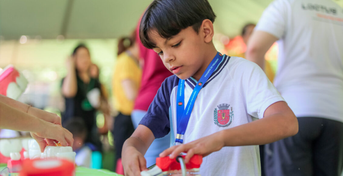
[[[266,176],[341,176],[343,123],[298,118],[299,132],[265,145]]]

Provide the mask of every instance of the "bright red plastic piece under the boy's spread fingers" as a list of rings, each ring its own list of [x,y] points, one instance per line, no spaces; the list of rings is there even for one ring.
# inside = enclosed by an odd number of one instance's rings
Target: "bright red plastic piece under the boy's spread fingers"
[[[186,157],[186,155],[181,155],[181,156],[184,159]],[[202,163],[202,156],[194,155],[186,164],[186,169],[200,168],[201,163]],[[181,169],[180,163],[176,161],[176,159],[173,159],[173,160],[170,159],[169,156],[156,158],[156,166],[161,168],[163,172]]]

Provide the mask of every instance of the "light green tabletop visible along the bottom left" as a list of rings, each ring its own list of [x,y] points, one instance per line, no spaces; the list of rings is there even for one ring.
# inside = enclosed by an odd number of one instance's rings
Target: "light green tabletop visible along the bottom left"
[[[0,164],[0,171],[7,167],[7,164]],[[115,172],[108,171],[107,169],[90,169],[86,167],[76,167],[76,176],[103,176],[103,175],[116,175],[121,176]],[[10,176],[19,176],[19,174],[11,173]]]

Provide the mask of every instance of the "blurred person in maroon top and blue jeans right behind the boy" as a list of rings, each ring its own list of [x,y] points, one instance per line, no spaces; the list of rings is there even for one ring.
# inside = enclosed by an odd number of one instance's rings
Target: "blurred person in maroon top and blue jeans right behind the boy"
[[[143,59],[143,72],[141,86],[139,87],[139,92],[131,114],[135,129],[146,114],[162,82],[173,74],[166,69],[161,58],[154,50],[147,49],[142,45],[139,38],[139,24],[140,23],[138,23],[136,30],[136,42],[139,46],[139,56]],[[156,157],[158,157],[159,153],[169,148],[170,142],[173,141],[174,143],[174,140],[175,139],[170,139],[170,133],[163,138],[155,139],[144,155],[146,166],[149,167],[155,164]]]

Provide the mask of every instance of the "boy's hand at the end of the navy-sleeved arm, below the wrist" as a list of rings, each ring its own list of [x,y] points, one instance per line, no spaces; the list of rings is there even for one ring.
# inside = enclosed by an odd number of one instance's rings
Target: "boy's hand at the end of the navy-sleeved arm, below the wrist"
[[[121,162],[124,167],[125,176],[140,176],[141,171],[147,170],[143,154],[133,146],[123,149]]]

